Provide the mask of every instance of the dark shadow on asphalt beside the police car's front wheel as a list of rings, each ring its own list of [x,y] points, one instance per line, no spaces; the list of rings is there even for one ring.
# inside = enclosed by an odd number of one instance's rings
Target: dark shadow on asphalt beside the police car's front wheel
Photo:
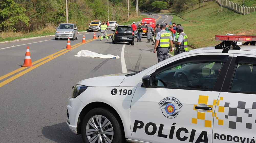
[[[58,143],[83,143],[82,136],[71,132],[66,122],[43,127],[42,134]]]

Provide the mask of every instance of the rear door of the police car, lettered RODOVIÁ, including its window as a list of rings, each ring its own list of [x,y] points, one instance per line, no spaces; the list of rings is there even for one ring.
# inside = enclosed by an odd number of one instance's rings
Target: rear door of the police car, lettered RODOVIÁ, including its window
[[[253,143],[256,135],[256,56],[235,54],[214,118],[213,143]]]

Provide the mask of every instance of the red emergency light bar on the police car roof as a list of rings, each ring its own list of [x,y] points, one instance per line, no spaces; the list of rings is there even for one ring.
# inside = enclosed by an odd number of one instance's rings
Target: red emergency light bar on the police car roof
[[[251,35],[215,35],[216,41],[256,41],[256,36]]]

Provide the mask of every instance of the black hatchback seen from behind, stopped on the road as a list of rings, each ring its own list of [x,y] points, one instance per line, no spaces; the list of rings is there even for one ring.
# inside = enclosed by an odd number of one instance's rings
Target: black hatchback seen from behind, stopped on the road
[[[129,44],[134,45],[134,33],[131,26],[119,25],[112,31],[114,31],[112,43],[129,42]]]

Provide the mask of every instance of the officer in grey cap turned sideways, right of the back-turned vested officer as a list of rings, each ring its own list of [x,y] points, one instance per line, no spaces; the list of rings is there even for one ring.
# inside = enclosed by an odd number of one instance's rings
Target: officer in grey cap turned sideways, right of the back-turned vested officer
[[[188,51],[188,37],[183,32],[182,26],[177,26],[177,31],[179,33],[179,37],[177,42],[174,42],[175,46],[177,45],[177,54]]]

